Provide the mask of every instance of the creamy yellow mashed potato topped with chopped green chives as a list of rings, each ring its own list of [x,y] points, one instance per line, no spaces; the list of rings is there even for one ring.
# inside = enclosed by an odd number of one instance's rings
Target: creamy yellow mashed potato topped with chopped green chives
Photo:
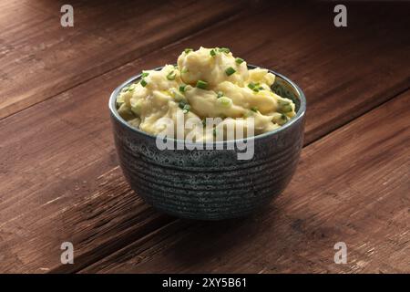
[[[178,66],[143,71],[137,83],[122,89],[118,113],[131,126],[153,135],[167,128],[167,120],[176,125],[181,116],[198,121],[184,131],[185,137],[195,131],[195,141],[212,141],[227,127],[246,130],[251,118],[258,135],[281,127],[295,115],[292,100],[272,92],[274,80],[267,69],[248,69],[228,48],[185,49]],[[220,119],[209,127],[206,118]]]

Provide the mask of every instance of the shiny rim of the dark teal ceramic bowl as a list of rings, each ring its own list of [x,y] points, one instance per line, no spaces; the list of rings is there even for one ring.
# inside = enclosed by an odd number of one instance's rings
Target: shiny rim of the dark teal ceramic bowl
[[[157,68],[153,68],[151,70],[157,70],[159,71],[160,69],[164,68],[165,66],[160,66]],[[259,66],[255,66],[255,65],[251,65],[251,64],[247,64],[248,68],[261,68]],[[304,96],[304,93],[302,91],[302,89],[299,88],[299,86],[296,85],[296,83],[294,83],[290,78],[287,78],[285,76],[283,76],[280,73],[277,73],[276,71],[272,70],[272,69],[268,69],[266,68],[270,73],[274,74],[275,77],[279,77],[282,78],[284,81],[286,81],[299,95],[299,99],[300,99],[300,107],[299,110],[296,112],[296,115],[292,118],[292,120],[288,121],[287,123],[285,123],[283,126],[281,126],[278,129],[272,130],[272,131],[268,131],[265,133],[261,133],[259,135],[256,136],[251,136],[251,137],[244,137],[241,139],[235,139],[235,140],[230,140],[230,141],[213,141],[212,144],[213,145],[218,145],[218,144],[225,144],[225,143],[230,143],[230,142],[237,142],[237,141],[256,141],[256,140],[260,140],[269,136],[274,136],[275,134],[278,134],[279,132],[281,132],[282,130],[286,130],[288,128],[291,128],[293,124],[297,123],[299,120],[302,120],[302,118],[305,115],[306,112],[306,98]],[[122,117],[119,115],[117,107],[116,107],[116,103],[117,103],[117,96],[120,92],[121,89],[125,88],[126,86],[128,86],[128,84],[134,82],[135,80],[138,80],[138,78],[141,78],[142,73],[139,73],[138,75],[135,75],[131,78],[128,78],[126,81],[122,82],[116,89],[114,89],[108,99],[108,108],[110,111],[110,114],[112,117],[114,117],[117,121],[119,121],[123,126],[125,126],[126,128],[128,128],[129,130],[132,130],[136,133],[138,133],[139,135],[143,135],[149,139],[157,139],[157,136],[146,133],[142,130],[139,130],[138,128],[132,127],[131,125],[128,124],[127,120],[122,119]],[[174,138],[169,138],[167,137],[167,140],[169,141],[173,141],[173,142],[180,142],[180,143],[185,143],[185,144],[198,144],[198,142],[189,142],[189,141],[185,141],[185,140],[179,140],[179,139],[174,139]]]

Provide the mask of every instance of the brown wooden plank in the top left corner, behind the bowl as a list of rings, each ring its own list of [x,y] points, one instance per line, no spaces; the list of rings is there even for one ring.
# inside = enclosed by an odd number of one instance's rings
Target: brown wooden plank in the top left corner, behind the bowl
[[[0,119],[241,9],[241,2],[214,0],[206,4],[77,0],[70,2],[74,27],[62,27],[64,4],[62,0],[2,1]]]

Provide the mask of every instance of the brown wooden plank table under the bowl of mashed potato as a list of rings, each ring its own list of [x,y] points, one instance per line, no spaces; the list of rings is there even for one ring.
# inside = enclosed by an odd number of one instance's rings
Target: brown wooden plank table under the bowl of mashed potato
[[[73,0],[62,27],[65,3],[0,4],[0,272],[410,272],[409,3],[349,2],[335,27],[329,2]],[[297,173],[249,218],[160,214],[118,168],[112,89],[200,46],[308,100]]]

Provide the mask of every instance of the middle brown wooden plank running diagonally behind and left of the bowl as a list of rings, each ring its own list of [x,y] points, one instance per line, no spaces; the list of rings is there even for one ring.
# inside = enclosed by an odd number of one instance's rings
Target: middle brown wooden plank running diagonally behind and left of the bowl
[[[121,81],[171,62],[184,47],[228,46],[295,80],[308,99],[307,142],[408,87],[408,60],[400,58],[409,47],[402,7],[368,16],[354,6],[350,31],[333,27],[323,13],[327,5],[273,8],[210,27],[1,120],[0,270],[77,271],[174,220],[125,184],[107,102]],[[74,243],[75,265],[61,266],[63,241]]]

